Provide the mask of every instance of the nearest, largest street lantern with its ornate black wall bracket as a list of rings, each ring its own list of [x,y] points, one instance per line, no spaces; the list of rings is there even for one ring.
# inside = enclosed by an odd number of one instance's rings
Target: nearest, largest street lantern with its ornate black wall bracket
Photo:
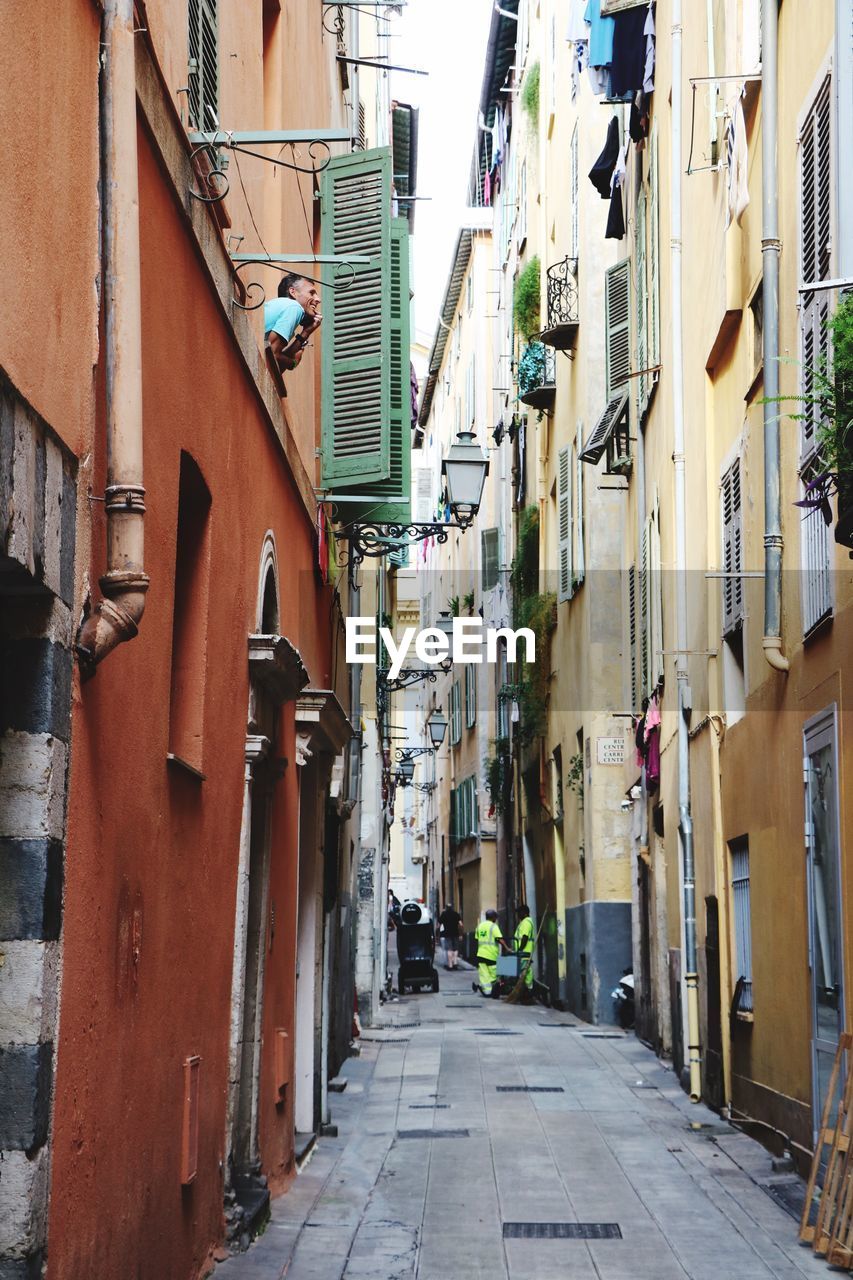
[[[473,431],[460,431],[456,444],[442,462],[442,475],[447,484],[447,503],[452,520],[429,525],[355,524],[336,532],[336,538],[350,540],[353,564],[368,556],[391,556],[401,547],[423,543],[434,538],[446,543],[451,529],[470,529],[483,500],[483,486],[489,474],[489,461],[484,456]]]

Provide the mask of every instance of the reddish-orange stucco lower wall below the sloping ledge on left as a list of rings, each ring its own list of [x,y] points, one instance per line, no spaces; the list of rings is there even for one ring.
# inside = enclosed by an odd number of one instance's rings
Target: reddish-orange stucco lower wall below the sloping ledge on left
[[[329,600],[314,573],[313,525],[142,129],[138,145],[151,588],[138,639],[74,698],[50,1280],[195,1276],[222,1235],[246,644],[268,530],[278,548],[282,632],[304,654],[314,685],[329,687],[330,673]],[[182,449],[213,498],[205,782],[167,764]],[[102,485],[102,458],[96,472]],[[100,509],[93,520],[92,579],[102,566]],[[261,1071],[260,1147],[277,1185],[292,1169],[293,1132],[289,1105],[274,1105],[268,1061],[273,1028],[292,1033],[293,1016],[292,716],[286,708],[278,748],[289,764],[273,812],[277,927]],[[182,1064],[196,1053],[199,1174],[182,1189]]]

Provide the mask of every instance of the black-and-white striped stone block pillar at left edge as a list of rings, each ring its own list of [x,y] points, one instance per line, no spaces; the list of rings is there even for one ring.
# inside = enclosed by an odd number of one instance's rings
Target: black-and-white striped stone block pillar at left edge
[[[0,1280],[41,1274],[72,690],[76,465],[0,374]]]

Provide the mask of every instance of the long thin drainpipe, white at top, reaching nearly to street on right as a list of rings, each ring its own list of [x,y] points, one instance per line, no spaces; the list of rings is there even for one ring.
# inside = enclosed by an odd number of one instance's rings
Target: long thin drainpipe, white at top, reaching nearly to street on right
[[[775,3],[775,0],[774,0]],[[688,718],[692,694],[688,685],[686,602],[686,475],[684,457],[684,346],[681,291],[681,0],[672,0],[672,430],[675,465],[675,616],[678,653],[675,678],[679,718],[679,835],[684,879],[684,984],[686,988],[688,1065],[690,1101],[702,1094],[699,1071],[699,980],[695,947],[695,869],[693,817],[690,814],[690,742]]]

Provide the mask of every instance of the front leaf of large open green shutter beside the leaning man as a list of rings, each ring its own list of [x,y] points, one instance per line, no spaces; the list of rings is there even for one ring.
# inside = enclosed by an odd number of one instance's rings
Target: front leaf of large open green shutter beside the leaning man
[[[323,293],[320,484],[360,492],[391,472],[391,148],[334,156],[320,195],[321,252],[370,257]]]

